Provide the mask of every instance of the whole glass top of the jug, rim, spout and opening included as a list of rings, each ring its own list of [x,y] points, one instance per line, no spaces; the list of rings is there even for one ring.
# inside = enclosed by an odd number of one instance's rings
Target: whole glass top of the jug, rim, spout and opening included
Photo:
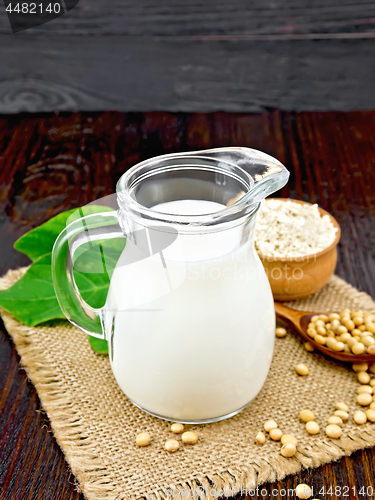
[[[124,225],[140,217],[175,224],[181,230],[217,226],[255,213],[259,203],[283,187],[288,178],[284,165],[261,151],[216,148],[145,160],[120,179],[117,197]]]

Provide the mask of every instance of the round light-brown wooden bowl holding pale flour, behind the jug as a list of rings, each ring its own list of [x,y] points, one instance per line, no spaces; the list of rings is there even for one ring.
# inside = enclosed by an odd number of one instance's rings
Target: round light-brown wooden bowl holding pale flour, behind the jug
[[[311,205],[306,201],[293,201],[301,205]],[[278,301],[298,300],[320,290],[332,276],[337,262],[337,244],[341,230],[336,219],[319,207],[320,214],[328,215],[338,229],[335,241],[321,252],[301,257],[272,257],[258,252],[271,285],[273,297]]]

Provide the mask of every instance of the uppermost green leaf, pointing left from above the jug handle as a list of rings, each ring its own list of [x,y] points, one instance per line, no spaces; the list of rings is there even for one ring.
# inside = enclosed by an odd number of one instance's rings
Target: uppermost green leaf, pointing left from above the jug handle
[[[56,217],[45,222],[39,227],[32,229],[28,233],[19,238],[14,248],[21,253],[24,253],[30,260],[35,262],[40,257],[48,255],[52,252],[53,245],[58,235],[63,231],[67,224],[74,220],[80,219],[84,215],[90,215],[100,212],[110,212],[112,208],[101,207],[98,205],[90,205],[82,208],[74,208],[67,212],[62,212]]]

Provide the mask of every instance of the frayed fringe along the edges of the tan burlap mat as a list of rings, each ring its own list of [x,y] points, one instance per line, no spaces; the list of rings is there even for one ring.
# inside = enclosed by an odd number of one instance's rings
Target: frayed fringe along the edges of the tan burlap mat
[[[10,286],[24,272],[25,269],[9,271],[1,279],[0,288]],[[366,293],[359,292],[336,276],[331,278],[331,283],[341,289],[345,288],[346,294],[361,304],[363,309],[375,310],[374,301]],[[317,301],[320,293],[322,292],[315,294]],[[296,309],[307,310],[305,301],[295,301],[289,305]],[[314,308],[314,299],[310,300],[309,306],[312,311],[317,310],[316,307]],[[105,457],[98,452],[95,441],[85,434],[80,415],[76,412],[72,401],[66,397],[64,386],[46,361],[43,349],[33,344],[31,328],[21,324],[4,310],[1,311],[1,316],[16,345],[27,376],[34,384],[41,404],[50,419],[56,441],[78,480],[78,490],[90,499],[124,499],[124,493],[116,484],[116,478],[106,468]],[[266,459],[253,460],[246,467],[231,467],[231,464],[228,464],[227,470],[220,474],[199,475],[197,472],[191,480],[171,484],[168,487],[180,492],[191,491],[192,496],[196,495],[203,500],[211,500],[218,496],[233,496],[237,492],[253,490],[263,483],[282,480],[285,476],[298,473],[302,469],[316,468],[374,445],[375,429],[358,428],[340,440],[327,438],[322,440],[319,446],[310,446],[303,452],[298,451],[291,459],[286,459],[279,453],[271,453]],[[185,495],[174,493],[173,498]],[[163,489],[154,490],[147,495],[148,500],[167,498],[171,498],[170,493],[168,494]]]

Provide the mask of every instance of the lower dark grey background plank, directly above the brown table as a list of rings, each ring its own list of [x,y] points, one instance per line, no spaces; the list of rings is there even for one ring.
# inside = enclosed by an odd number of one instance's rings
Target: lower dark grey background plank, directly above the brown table
[[[46,42],[3,35],[0,113],[371,109],[374,56],[375,38],[187,43],[55,36]]]

